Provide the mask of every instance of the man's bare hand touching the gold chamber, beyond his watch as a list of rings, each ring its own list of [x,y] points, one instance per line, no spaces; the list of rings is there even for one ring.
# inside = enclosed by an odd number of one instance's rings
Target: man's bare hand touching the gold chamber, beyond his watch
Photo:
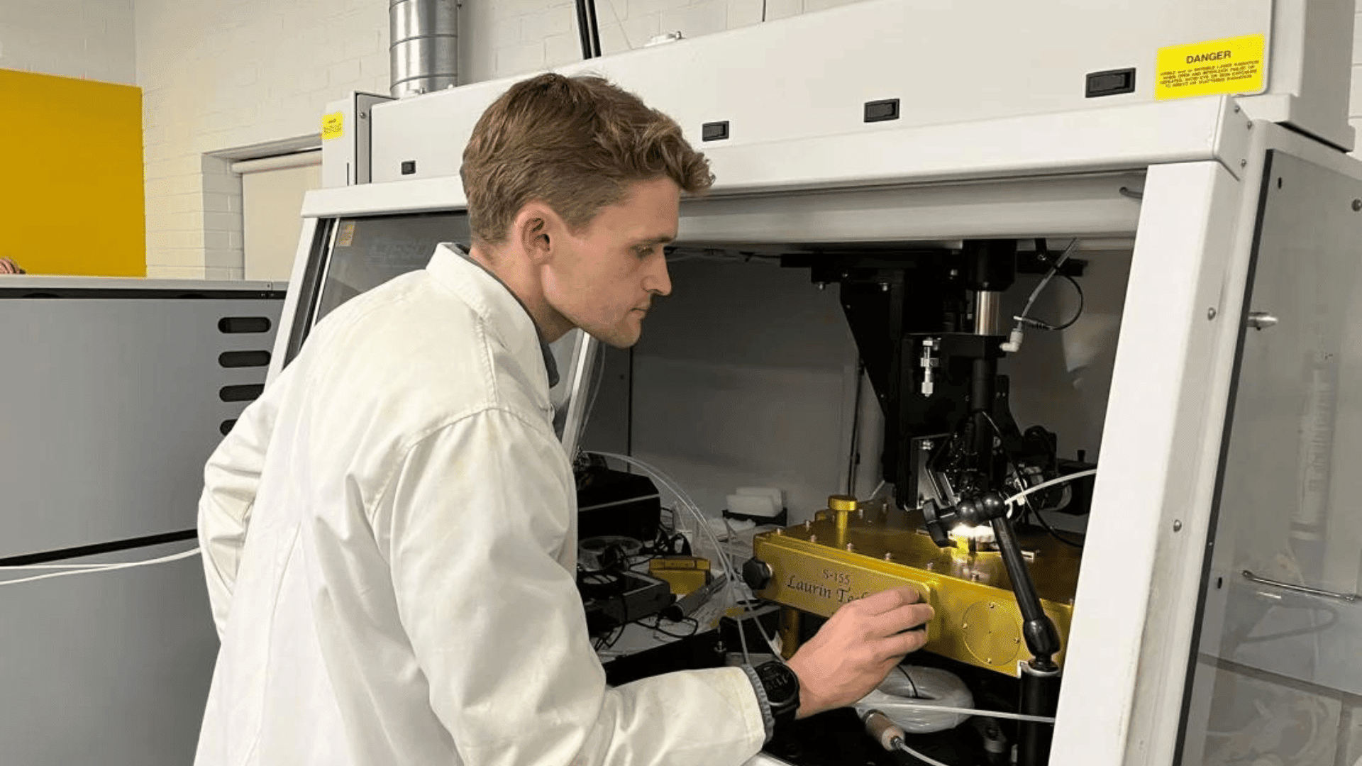
[[[911,585],[843,604],[790,658],[799,676],[804,718],[844,707],[870,692],[910,652],[922,649],[926,631],[910,630],[932,619]],[[908,632],[903,632],[908,631]]]

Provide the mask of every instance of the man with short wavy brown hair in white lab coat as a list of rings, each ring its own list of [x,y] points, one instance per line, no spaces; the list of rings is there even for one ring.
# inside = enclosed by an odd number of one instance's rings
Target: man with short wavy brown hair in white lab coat
[[[486,110],[462,176],[471,252],[330,313],[206,468],[222,649],[196,763],[737,765],[870,691],[923,642],[911,589],[843,607],[789,668],[606,687],[546,343],[639,339],[708,164],[632,94],[549,74]]]

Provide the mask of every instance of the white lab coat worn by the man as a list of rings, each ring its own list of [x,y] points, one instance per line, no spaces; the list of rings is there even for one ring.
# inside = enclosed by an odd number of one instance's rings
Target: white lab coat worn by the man
[[[204,470],[197,766],[742,763],[740,668],[607,688],[528,313],[441,245],[353,298]]]

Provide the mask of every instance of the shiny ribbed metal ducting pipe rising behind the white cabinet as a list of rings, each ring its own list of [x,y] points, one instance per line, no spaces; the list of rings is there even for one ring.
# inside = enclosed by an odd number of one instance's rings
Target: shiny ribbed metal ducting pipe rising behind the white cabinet
[[[392,97],[459,85],[458,0],[390,0]]]

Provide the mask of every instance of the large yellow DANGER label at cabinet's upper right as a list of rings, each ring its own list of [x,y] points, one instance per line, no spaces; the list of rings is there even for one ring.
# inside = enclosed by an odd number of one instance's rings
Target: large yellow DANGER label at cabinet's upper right
[[[1248,34],[1159,49],[1154,98],[1263,90],[1263,35]]]

